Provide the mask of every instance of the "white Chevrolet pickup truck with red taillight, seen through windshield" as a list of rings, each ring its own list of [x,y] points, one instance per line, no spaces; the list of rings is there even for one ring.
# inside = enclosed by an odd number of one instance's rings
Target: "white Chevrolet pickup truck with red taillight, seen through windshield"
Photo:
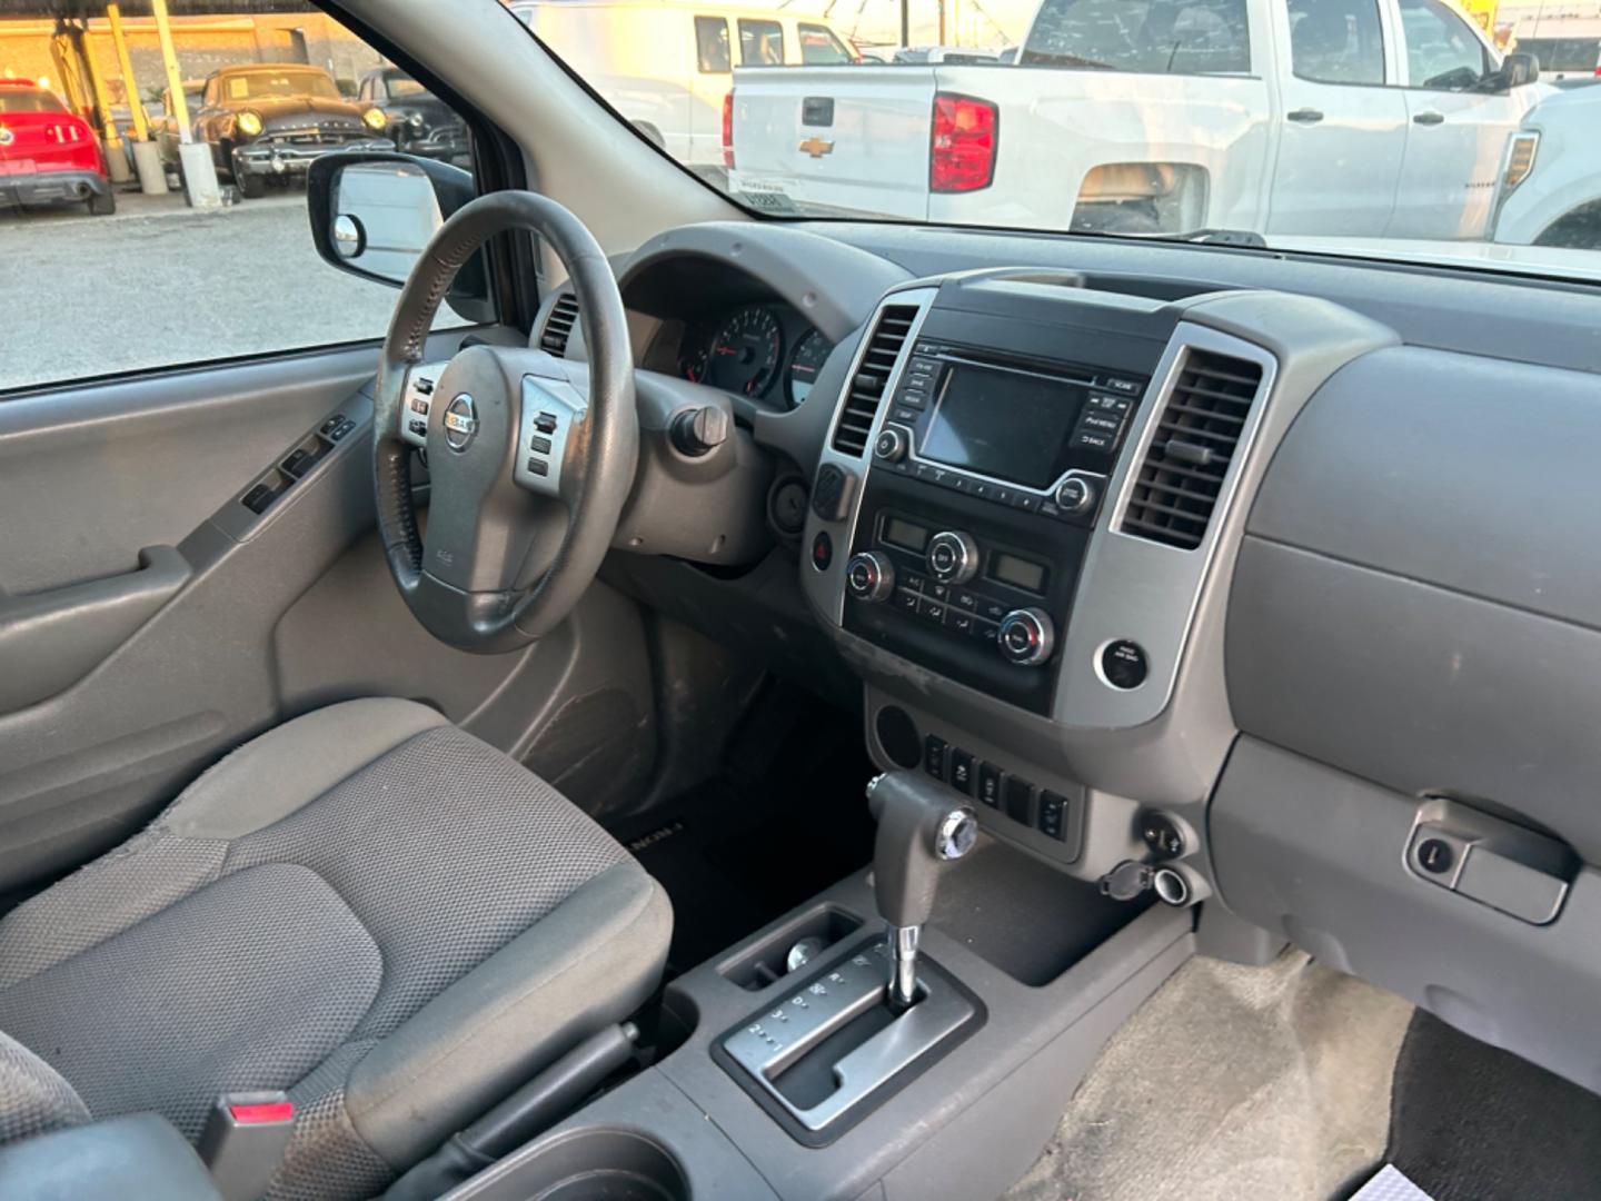
[[[1042,0],[1015,64],[735,72],[778,211],[1479,239],[1550,90],[1444,0]]]

